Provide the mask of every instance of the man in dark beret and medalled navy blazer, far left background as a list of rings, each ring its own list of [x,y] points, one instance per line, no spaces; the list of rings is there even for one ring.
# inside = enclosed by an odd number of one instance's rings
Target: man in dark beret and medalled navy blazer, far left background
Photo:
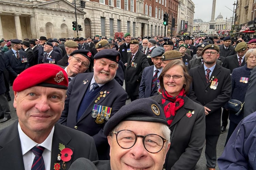
[[[9,79],[13,84],[14,79],[25,69],[29,67],[27,55],[21,51],[20,40],[11,40],[12,49],[3,53],[5,68],[9,71]]]

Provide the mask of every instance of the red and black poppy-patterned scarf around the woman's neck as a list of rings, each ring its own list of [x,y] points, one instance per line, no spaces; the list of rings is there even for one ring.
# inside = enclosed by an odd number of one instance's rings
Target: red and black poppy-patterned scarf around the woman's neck
[[[163,88],[162,90],[162,104],[163,104],[163,111],[167,120],[168,125],[170,126],[174,116],[177,113],[177,110],[183,106],[184,99],[186,97],[185,89],[182,88],[179,92],[178,96],[173,97],[165,91]]]

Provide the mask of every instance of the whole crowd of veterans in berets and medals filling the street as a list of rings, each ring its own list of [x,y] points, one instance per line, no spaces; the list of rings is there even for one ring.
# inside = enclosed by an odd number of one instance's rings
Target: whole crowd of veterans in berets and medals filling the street
[[[0,131],[3,169],[193,170],[204,146],[209,170],[217,160],[256,169],[256,38],[126,33],[0,45],[0,123],[11,100],[18,116]]]

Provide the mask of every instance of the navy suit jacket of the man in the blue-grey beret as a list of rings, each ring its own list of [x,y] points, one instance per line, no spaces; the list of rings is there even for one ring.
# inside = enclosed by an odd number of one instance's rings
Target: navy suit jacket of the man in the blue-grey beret
[[[157,85],[155,85],[154,89],[152,90],[153,74],[154,74],[154,65],[146,67],[143,70],[142,77],[141,77],[141,84],[139,87],[140,99],[157,95],[157,90],[158,90]]]

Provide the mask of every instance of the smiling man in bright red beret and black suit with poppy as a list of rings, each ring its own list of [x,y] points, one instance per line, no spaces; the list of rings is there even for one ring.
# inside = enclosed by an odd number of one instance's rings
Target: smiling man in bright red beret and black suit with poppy
[[[15,79],[18,121],[0,131],[1,169],[68,169],[77,158],[98,159],[92,137],[56,123],[67,86],[66,72],[53,64],[32,66]]]

